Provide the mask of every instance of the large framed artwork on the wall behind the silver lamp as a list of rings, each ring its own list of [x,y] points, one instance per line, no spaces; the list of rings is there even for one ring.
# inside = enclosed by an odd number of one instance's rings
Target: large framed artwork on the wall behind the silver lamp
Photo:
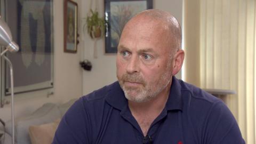
[[[20,46],[17,53],[6,53],[13,64],[14,93],[52,88],[53,0],[9,0],[5,5],[5,20]],[[2,95],[10,94],[9,71],[2,62]]]

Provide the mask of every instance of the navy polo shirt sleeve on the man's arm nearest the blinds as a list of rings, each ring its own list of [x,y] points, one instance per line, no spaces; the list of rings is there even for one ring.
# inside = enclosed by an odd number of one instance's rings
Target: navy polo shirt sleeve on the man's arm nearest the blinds
[[[222,101],[215,103],[204,125],[202,143],[211,144],[244,144],[235,117]]]

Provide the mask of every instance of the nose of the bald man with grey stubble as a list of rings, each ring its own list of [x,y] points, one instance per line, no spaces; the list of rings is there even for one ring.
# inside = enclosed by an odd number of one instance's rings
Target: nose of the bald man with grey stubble
[[[138,73],[140,70],[139,65],[140,65],[140,62],[138,58],[135,55],[133,55],[133,57],[128,61],[128,65],[126,67],[127,73],[129,74]]]

